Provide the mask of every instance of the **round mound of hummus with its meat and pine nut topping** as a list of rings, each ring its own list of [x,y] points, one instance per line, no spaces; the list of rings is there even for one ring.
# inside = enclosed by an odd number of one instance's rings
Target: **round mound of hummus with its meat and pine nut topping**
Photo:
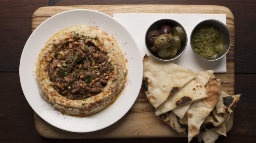
[[[127,69],[116,41],[86,25],[64,29],[39,54],[40,95],[60,112],[88,116],[110,104],[125,83]]]

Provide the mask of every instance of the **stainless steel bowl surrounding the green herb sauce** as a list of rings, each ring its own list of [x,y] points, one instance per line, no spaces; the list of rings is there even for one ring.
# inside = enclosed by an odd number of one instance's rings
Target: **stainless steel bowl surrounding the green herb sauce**
[[[205,57],[201,57],[199,56],[193,49],[192,47],[192,36],[194,34],[194,32],[200,28],[200,27],[204,27],[204,26],[212,26],[216,29],[218,29],[221,33],[221,38],[222,38],[222,46],[224,49],[226,49],[226,51],[222,51],[212,57],[209,57],[209,58],[205,58]],[[190,36],[190,45],[191,45],[191,48],[193,50],[193,52],[201,59],[203,60],[206,60],[206,61],[216,61],[216,60],[219,60],[220,58],[223,58],[229,51],[229,48],[231,46],[231,34],[228,30],[228,27],[221,23],[220,21],[218,20],[204,20],[202,22],[200,22],[199,24],[196,25],[196,27],[193,29],[193,31],[191,32],[191,36]]]

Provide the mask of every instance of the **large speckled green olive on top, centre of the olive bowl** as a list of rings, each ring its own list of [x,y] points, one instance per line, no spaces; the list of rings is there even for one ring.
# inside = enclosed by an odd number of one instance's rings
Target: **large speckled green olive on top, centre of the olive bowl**
[[[174,38],[171,34],[162,34],[156,37],[154,45],[158,49],[168,48],[174,43]]]

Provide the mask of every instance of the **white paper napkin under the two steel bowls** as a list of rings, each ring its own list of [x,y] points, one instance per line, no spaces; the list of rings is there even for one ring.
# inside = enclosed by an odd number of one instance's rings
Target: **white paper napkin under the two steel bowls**
[[[214,72],[223,73],[227,71],[226,56],[217,61],[204,61],[193,53],[190,46],[190,34],[196,24],[207,19],[215,19],[226,24],[226,14],[144,14],[144,13],[124,13],[113,14],[115,20],[121,23],[132,35],[139,46],[142,57],[149,54],[145,45],[145,34],[147,28],[156,20],[168,18],[178,21],[184,28],[188,36],[187,48],[184,53],[174,62],[195,71],[206,71],[212,69]]]

